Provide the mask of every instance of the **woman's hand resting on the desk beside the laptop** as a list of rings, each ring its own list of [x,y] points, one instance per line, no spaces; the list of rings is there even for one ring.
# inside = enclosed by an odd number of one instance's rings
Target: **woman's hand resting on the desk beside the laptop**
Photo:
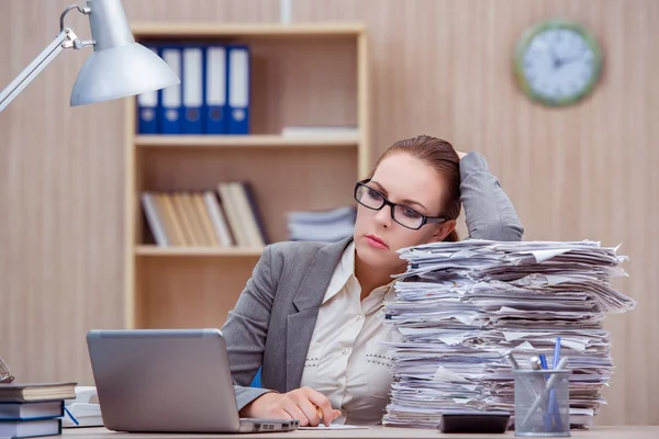
[[[260,419],[298,419],[302,427],[328,426],[340,416],[330,399],[310,387],[295,389],[288,393],[266,393],[241,410],[241,417]]]

